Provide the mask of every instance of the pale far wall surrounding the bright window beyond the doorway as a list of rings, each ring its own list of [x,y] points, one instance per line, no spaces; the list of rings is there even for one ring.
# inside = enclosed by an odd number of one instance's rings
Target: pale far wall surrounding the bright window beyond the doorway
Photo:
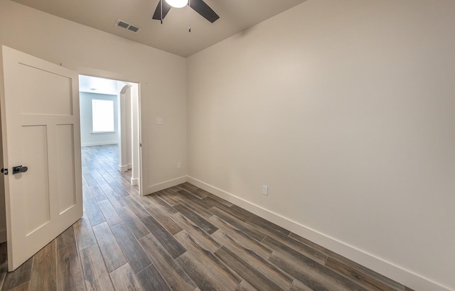
[[[114,133],[92,133],[92,99],[114,102]],[[82,146],[100,146],[119,142],[119,114],[117,95],[80,92],[80,143]]]

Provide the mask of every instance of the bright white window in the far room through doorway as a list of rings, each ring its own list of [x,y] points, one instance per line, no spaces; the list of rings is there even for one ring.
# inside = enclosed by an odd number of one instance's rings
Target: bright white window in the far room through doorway
[[[92,99],[92,130],[95,133],[114,131],[114,101]]]

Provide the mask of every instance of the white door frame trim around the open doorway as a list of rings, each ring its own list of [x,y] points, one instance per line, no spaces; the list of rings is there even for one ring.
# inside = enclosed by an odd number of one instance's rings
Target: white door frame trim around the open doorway
[[[114,79],[114,80],[117,80],[117,81],[121,81],[121,82],[132,82],[132,83],[137,83],[138,84],[138,92],[137,92],[137,97],[138,97],[138,119],[139,119],[139,124],[138,124],[138,131],[139,131],[139,141],[137,141],[139,143],[139,195],[143,196],[144,195],[144,183],[143,183],[143,179],[142,179],[142,173],[143,173],[143,167],[144,167],[144,163],[142,161],[142,147],[141,147],[141,143],[142,143],[142,131],[141,131],[141,123],[142,123],[142,120],[141,120],[141,82],[140,81],[137,81],[137,77],[134,77],[134,76],[130,76],[130,75],[124,75],[124,74],[120,74],[120,73],[117,73],[117,72],[109,72],[109,71],[105,71],[105,70],[97,70],[97,69],[93,69],[93,68],[90,68],[90,67],[77,67],[77,66],[71,66],[71,65],[68,65],[65,67],[68,67],[68,69],[70,70],[73,70],[75,72],[77,72],[78,75],[85,75],[85,76],[90,76],[90,77],[100,77],[100,78],[105,78],[105,79]],[[79,90],[79,89],[77,89]],[[117,113],[116,113],[117,114]]]

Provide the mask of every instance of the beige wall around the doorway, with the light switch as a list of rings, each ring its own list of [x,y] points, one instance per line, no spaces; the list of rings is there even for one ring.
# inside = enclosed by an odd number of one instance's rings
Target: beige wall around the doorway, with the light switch
[[[0,44],[76,68],[85,75],[100,72],[107,74],[100,77],[139,82],[144,194],[185,179],[186,60],[183,57],[9,0],[0,0]],[[162,117],[164,125],[156,126],[156,117]],[[181,169],[176,168],[178,162],[182,162]]]

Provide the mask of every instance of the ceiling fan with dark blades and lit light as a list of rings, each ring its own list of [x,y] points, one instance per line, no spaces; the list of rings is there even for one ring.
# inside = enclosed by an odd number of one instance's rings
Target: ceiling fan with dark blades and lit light
[[[181,8],[186,5],[190,6],[194,11],[199,13],[200,16],[207,19],[211,23],[214,23],[218,18],[220,18],[220,16],[218,16],[215,11],[205,4],[203,0],[159,0],[153,19],[163,21],[169,10],[171,10],[171,7]]]

